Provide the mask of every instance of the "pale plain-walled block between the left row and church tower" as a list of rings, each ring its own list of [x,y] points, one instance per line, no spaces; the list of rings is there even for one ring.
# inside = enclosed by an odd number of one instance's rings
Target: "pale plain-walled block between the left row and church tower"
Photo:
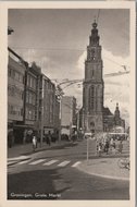
[[[70,135],[76,126],[76,98],[63,96],[61,99],[61,133]]]

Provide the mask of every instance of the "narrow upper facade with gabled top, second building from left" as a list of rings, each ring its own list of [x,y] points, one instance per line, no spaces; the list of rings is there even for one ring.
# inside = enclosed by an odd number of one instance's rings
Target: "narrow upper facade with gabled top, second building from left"
[[[39,85],[41,69],[34,62],[27,66],[25,74],[25,101],[24,101],[24,124],[26,127],[38,127],[39,109]]]

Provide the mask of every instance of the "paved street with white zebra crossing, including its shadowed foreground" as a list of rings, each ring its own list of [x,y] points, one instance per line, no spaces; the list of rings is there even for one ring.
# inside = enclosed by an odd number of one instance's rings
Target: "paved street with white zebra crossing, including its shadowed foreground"
[[[30,159],[9,166],[8,198],[129,199],[129,182],[79,171],[85,159],[85,139],[32,154]]]

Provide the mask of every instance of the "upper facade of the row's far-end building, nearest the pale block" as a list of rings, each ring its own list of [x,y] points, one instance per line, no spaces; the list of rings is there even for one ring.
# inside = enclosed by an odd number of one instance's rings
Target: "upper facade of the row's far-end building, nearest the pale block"
[[[39,120],[43,134],[59,131],[60,102],[55,95],[54,84],[43,74],[40,77]]]

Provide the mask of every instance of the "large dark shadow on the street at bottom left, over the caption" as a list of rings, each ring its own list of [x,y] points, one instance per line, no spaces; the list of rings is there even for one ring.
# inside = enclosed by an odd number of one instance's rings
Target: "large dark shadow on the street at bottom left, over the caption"
[[[61,175],[54,169],[46,173],[36,170],[9,174],[8,199],[61,199],[61,193],[68,187],[55,190],[53,182],[57,180],[61,180]]]

